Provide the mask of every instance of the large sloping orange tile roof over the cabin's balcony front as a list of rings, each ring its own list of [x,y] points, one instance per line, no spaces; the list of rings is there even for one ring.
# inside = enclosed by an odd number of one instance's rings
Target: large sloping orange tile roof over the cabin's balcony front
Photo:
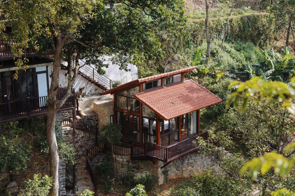
[[[144,91],[135,98],[147,105],[164,120],[169,120],[222,100],[193,80]]]

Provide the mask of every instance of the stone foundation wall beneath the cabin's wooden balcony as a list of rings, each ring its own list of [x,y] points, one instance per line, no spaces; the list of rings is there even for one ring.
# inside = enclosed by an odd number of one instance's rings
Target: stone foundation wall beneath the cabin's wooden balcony
[[[163,169],[161,167],[166,163],[159,160],[154,160],[155,163],[153,163],[150,160],[131,160],[130,156],[125,155],[114,155],[114,157],[118,173],[127,173],[129,171],[136,174],[148,170],[151,174],[158,177],[159,185],[164,182],[163,170],[168,170],[168,179],[174,179],[178,177],[190,177],[207,167],[218,169],[213,156],[202,155],[197,151],[172,161]],[[103,158],[114,163],[114,157],[111,153],[101,153],[91,160],[92,166],[95,168],[95,165],[100,164]]]

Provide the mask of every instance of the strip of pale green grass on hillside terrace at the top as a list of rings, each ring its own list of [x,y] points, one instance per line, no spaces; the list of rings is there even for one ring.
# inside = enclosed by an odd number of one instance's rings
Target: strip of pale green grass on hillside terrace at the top
[[[257,12],[249,8],[233,9],[231,16],[239,16],[239,15],[253,14],[253,13],[257,13]],[[209,11],[209,18],[210,19],[218,18],[220,14],[221,14],[221,17],[227,17],[227,10]],[[204,11],[198,11],[198,12],[189,14],[189,19],[204,19],[204,18],[206,18],[206,12]]]

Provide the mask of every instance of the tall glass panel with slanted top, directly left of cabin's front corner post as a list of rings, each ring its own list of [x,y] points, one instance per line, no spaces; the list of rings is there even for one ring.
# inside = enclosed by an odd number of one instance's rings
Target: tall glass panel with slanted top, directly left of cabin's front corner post
[[[142,143],[156,144],[156,114],[144,104],[142,104],[142,135]]]

